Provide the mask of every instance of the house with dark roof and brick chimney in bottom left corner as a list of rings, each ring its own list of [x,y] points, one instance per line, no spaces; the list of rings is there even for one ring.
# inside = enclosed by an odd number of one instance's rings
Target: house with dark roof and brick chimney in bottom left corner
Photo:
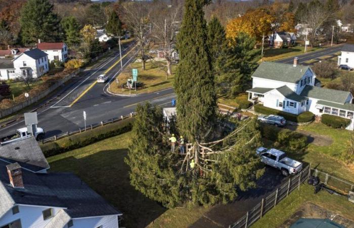
[[[49,168],[33,137],[0,146],[0,227],[119,226],[122,213],[80,178],[40,172],[43,165]]]

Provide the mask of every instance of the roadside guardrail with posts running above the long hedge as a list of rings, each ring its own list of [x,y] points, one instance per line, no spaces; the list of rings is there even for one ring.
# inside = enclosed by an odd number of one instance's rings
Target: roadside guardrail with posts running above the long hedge
[[[74,135],[74,134],[81,133],[81,132],[84,132],[84,131],[90,131],[90,130],[95,129],[97,127],[101,127],[101,126],[104,126],[104,125],[107,125],[107,124],[112,124],[112,123],[115,123],[115,122],[118,122],[118,121],[125,120],[127,118],[132,118],[134,116],[136,116],[136,112],[130,112],[128,115],[123,115],[123,116],[112,118],[112,119],[109,119],[109,120],[106,120],[106,121],[101,121],[100,123],[95,123],[95,124],[87,125],[87,126],[84,126],[84,127],[80,127],[77,130],[67,131],[67,132],[64,132],[64,133],[61,133],[61,134],[58,134],[58,135],[54,135],[54,136],[49,137],[49,138],[45,138],[45,139],[41,140],[41,142],[42,143],[46,143],[46,142],[56,141],[58,139],[65,138],[65,137],[68,137],[70,135]]]

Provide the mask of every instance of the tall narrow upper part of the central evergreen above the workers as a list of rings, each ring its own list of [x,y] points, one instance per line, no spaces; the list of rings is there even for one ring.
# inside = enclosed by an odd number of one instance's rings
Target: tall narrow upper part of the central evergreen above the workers
[[[203,7],[206,0],[186,0],[178,35],[180,64],[174,80],[178,127],[190,141],[203,141],[216,114],[214,77]]]

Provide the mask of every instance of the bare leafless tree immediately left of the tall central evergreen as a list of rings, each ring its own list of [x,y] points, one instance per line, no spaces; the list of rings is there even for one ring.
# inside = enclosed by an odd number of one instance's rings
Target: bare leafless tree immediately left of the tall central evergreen
[[[164,2],[154,4],[151,16],[153,30],[151,37],[160,45],[160,52],[166,60],[166,79],[172,74],[172,54],[175,50],[176,34],[180,28],[182,20],[183,5],[181,2],[176,5],[167,5]]]

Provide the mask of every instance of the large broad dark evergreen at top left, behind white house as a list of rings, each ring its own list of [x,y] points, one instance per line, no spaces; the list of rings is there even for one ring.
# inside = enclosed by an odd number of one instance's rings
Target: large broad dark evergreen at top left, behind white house
[[[56,41],[59,36],[59,20],[49,0],[28,0],[21,9],[21,37],[24,44]]]

